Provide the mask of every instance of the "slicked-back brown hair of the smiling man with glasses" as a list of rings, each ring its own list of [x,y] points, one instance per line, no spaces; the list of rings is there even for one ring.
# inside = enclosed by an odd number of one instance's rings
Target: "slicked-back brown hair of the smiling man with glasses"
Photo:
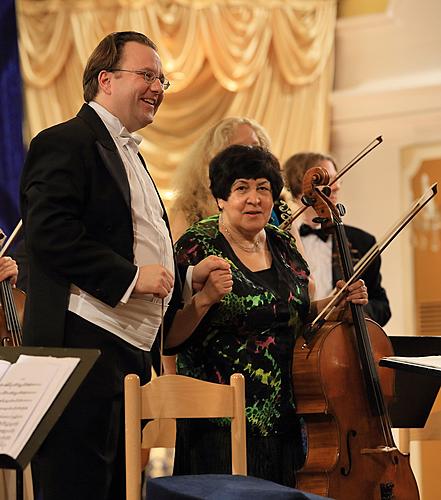
[[[83,95],[90,102],[98,94],[98,75],[104,69],[117,68],[127,42],[137,42],[158,50],[156,45],[142,33],[118,31],[107,35],[89,57],[83,73]]]

